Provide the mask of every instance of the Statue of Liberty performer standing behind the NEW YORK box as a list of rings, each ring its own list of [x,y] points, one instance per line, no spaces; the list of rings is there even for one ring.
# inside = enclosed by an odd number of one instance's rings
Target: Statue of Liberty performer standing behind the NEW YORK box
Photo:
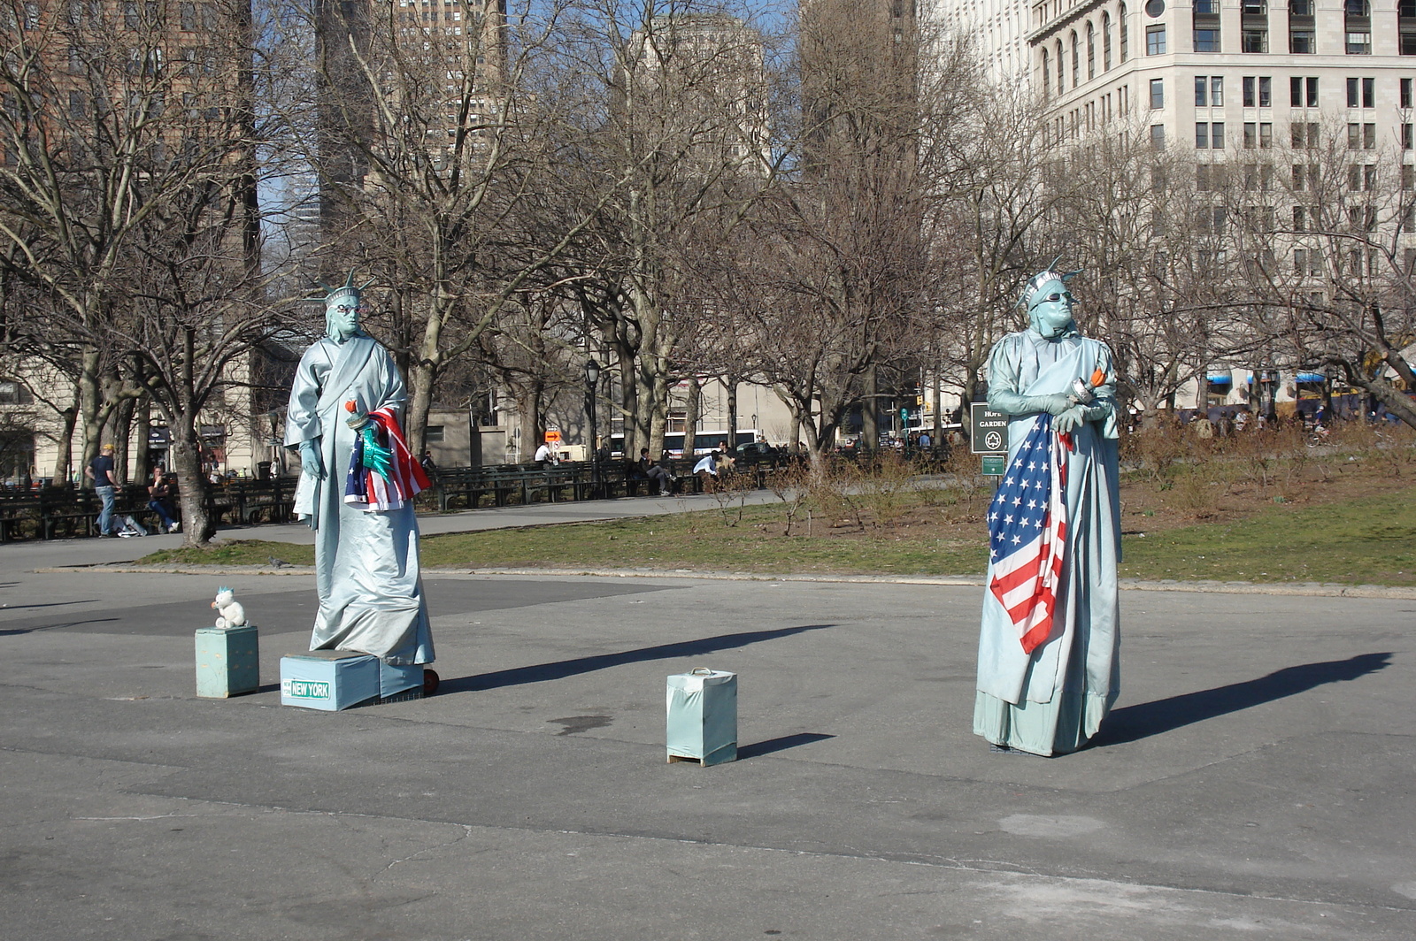
[[[295,511],[316,533],[320,610],[310,650],[430,664],[412,504],[428,477],[399,425],[404,379],[360,330],[362,311],[353,275],[329,290],[326,335],[300,357],[290,388],[285,443],[299,447],[302,464]]]

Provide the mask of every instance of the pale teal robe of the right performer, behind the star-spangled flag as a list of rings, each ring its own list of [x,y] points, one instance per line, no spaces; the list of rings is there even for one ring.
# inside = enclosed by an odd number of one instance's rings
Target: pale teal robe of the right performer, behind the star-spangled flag
[[[1008,334],[988,361],[988,403],[1014,412],[1018,396],[1066,393],[1073,379],[1102,369],[1102,400],[1114,395],[1112,351],[1075,330],[1046,340],[1034,330]],[[1038,413],[1011,415],[1008,457]],[[1051,640],[1027,654],[1003,604],[984,591],[978,637],[974,734],[994,744],[1052,756],[1075,751],[1096,734],[1120,692],[1120,560],[1114,408],[1104,420],[1072,432],[1068,453],[1068,542]],[[988,580],[993,565],[988,566]]]

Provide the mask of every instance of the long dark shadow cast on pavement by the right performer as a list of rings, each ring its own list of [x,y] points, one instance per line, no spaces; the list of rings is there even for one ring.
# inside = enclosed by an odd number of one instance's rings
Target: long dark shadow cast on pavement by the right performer
[[[1106,723],[1092,741],[1096,746],[1109,746],[1157,736],[1163,732],[1293,696],[1324,683],[1358,679],[1385,669],[1391,659],[1391,654],[1358,654],[1351,659],[1284,666],[1267,676],[1246,679],[1242,683],[1126,706],[1113,710],[1106,717]]]

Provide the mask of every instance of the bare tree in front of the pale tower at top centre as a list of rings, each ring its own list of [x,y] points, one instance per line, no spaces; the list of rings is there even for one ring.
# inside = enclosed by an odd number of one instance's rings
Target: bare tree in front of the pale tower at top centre
[[[558,269],[616,361],[626,449],[663,449],[680,351],[701,325],[691,276],[770,180],[766,38],[722,4],[603,0],[571,24],[585,147],[564,198],[593,218]],[[593,208],[592,208],[593,204]]]

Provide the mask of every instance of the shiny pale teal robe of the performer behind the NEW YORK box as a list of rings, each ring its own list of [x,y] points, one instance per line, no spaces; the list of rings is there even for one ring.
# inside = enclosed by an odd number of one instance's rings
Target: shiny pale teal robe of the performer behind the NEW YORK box
[[[392,408],[406,393],[392,357],[355,334],[346,342],[317,340],[300,358],[290,388],[285,443],[319,439],[324,478],[300,474],[295,509],[314,529],[320,610],[310,650],[351,650],[389,664],[433,662],[432,627],[418,560],[418,519],[411,502],[392,511],[344,502],[344,480],[355,432],[347,400],[364,413]]]

